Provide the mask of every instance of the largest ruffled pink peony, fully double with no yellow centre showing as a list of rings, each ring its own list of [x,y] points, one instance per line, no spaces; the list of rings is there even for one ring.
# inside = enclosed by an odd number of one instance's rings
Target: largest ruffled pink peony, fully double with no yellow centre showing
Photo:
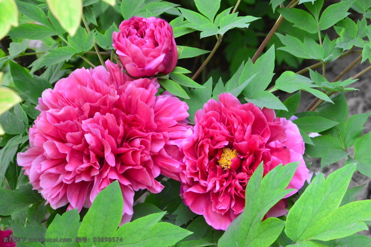
[[[155,79],[134,80],[118,65],[106,66],[75,70],[43,92],[30,148],[17,161],[52,208],[90,207],[118,180],[127,222],[134,191],[160,192],[160,173],[179,180],[178,146],[191,133],[188,106],[155,96]]]

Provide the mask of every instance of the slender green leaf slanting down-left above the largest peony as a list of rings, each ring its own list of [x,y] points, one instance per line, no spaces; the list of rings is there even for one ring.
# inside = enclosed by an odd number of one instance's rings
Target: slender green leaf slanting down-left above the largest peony
[[[60,62],[67,61],[71,59],[71,57],[76,53],[75,50],[73,50],[71,47],[68,46],[63,46],[63,47],[58,47],[54,50],[48,51],[48,53],[43,56],[42,58],[38,59],[41,60],[39,64],[35,64],[36,68],[39,69],[43,66],[50,66],[53,64],[57,64]],[[36,60],[36,61],[38,61]],[[35,63],[35,62],[34,62]],[[31,66],[34,65],[31,64]],[[32,67],[34,69],[34,67]]]

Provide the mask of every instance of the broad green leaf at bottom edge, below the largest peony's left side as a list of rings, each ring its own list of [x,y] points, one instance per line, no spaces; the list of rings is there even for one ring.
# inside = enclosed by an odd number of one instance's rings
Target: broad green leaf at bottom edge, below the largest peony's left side
[[[46,242],[46,247],[79,247],[80,244],[75,241],[81,225],[79,221],[80,216],[76,208],[63,213],[62,216],[57,214],[47,228],[45,238],[71,238],[72,243]]]

